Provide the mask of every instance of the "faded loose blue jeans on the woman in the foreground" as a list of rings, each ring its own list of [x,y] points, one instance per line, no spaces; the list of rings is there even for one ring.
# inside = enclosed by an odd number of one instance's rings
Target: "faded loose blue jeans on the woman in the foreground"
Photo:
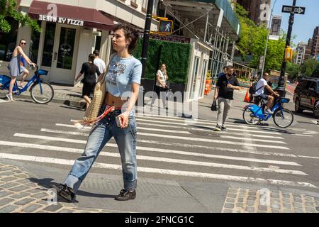
[[[103,113],[102,107],[100,114]],[[135,117],[129,117],[128,127],[121,129],[116,125],[116,116],[121,110],[108,114],[99,123],[96,123],[89,134],[86,148],[81,157],[75,160],[65,183],[77,193],[84,178],[91,169],[96,157],[112,137],[116,140],[121,155],[124,189],[126,191],[137,187],[137,162],[136,162],[136,122]]]

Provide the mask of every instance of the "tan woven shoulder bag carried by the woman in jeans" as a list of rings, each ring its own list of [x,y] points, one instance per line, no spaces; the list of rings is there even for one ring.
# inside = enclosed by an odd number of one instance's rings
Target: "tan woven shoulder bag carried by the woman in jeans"
[[[108,68],[110,67],[110,64],[113,60],[114,55],[115,53],[111,55],[110,57],[111,60],[110,62],[108,62],[108,67],[106,68],[106,72],[108,72]],[[100,82],[97,82],[95,85],[93,99],[91,100],[91,104],[89,104],[89,107],[85,111],[83,121],[91,122],[97,118],[97,116],[99,115],[101,106],[103,104],[103,101],[105,99],[106,92],[107,92],[106,82],[104,77]]]

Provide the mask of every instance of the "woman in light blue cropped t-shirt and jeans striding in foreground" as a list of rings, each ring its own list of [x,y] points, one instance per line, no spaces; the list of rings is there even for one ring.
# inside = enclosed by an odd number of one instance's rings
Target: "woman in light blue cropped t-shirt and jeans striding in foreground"
[[[57,194],[68,201],[74,201],[75,194],[88,174],[96,157],[112,137],[116,140],[121,155],[124,187],[115,199],[135,199],[137,187],[136,123],[134,107],[138,99],[142,64],[131,55],[138,45],[138,32],[117,24],[113,29],[113,49],[108,70],[105,74],[106,99],[101,108],[103,114],[108,107],[115,111],[94,124],[81,157],[75,160],[72,170],[63,184],[52,184]],[[103,75],[103,74],[102,74]],[[103,76],[99,77],[99,80]],[[120,116],[121,126],[116,123]]]

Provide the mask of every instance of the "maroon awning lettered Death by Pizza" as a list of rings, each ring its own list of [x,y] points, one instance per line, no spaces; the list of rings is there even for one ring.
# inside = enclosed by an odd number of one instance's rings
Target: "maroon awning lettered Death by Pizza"
[[[87,26],[102,30],[113,30],[114,22],[96,9],[79,6],[33,1],[29,16],[39,21],[65,23],[73,26]]]

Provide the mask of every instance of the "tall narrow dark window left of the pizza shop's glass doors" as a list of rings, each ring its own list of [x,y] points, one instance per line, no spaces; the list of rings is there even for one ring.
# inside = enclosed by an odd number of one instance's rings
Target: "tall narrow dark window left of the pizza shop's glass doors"
[[[47,23],[45,28],[45,42],[43,46],[42,65],[51,67],[53,47],[55,45],[55,23]]]

